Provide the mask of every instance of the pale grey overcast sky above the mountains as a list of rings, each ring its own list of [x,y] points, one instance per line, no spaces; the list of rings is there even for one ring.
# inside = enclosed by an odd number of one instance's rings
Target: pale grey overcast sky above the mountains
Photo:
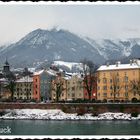
[[[140,5],[0,4],[0,44],[55,26],[93,39],[140,38]]]

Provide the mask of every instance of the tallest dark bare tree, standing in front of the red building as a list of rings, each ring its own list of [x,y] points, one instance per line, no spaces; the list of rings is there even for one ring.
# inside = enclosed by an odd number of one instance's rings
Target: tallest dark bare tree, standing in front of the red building
[[[96,65],[87,59],[84,59],[81,61],[83,64],[83,73],[84,73],[84,88],[86,89],[88,93],[89,100],[91,100],[92,91],[94,88],[94,85],[96,84],[97,77],[96,77]]]

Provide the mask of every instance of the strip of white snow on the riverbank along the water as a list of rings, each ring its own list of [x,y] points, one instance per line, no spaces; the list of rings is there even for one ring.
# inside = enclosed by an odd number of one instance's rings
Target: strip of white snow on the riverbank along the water
[[[13,109],[5,110],[6,114],[0,116],[0,119],[41,119],[41,120],[140,120],[138,117],[131,117],[131,114],[107,112],[92,116],[84,114],[78,116],[77,113],[68,114],[58,109]]]

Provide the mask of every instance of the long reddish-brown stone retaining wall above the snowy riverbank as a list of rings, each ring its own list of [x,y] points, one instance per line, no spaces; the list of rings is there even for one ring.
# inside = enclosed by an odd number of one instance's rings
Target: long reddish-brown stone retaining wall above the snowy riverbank
[[[105,112],[124,112],[140,113],[140,104],[29,104],[29,103],[0,103],[0,110],[4,109],[61,109],[67,113],[76,113],[78,111],[86,113],[105,113]]]

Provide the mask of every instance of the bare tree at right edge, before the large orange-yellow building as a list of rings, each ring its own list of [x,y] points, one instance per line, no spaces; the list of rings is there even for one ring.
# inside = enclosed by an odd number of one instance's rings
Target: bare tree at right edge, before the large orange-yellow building
[[[130,81],[130,91],[139,95],[139,100],[140,100],[140,80]]]

